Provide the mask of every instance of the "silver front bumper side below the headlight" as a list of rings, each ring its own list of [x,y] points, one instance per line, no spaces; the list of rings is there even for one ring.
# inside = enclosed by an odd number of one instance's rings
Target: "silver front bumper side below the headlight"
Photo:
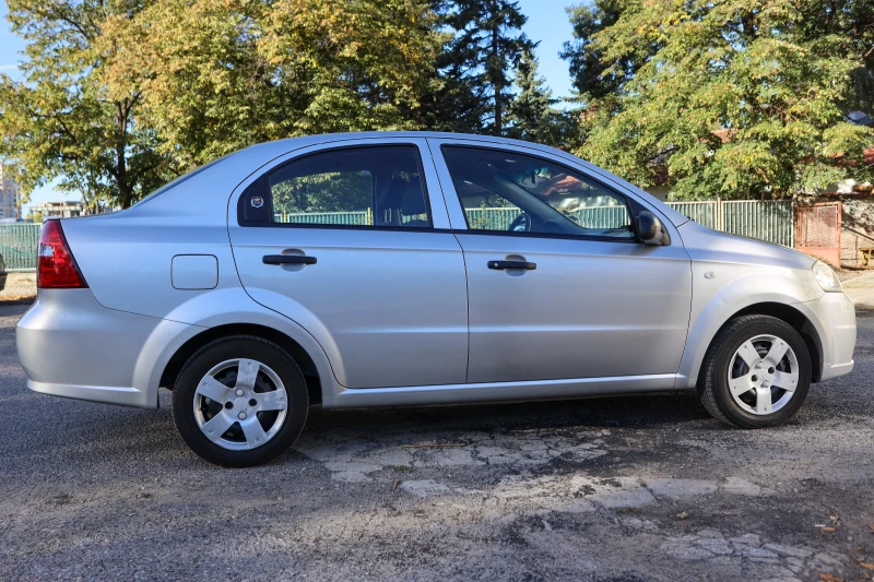
[[[799,304],[810,312],[823,348],[820,381],[853,370],[855,349],[855,306],[843,293],[826,293],[819,299]]]

